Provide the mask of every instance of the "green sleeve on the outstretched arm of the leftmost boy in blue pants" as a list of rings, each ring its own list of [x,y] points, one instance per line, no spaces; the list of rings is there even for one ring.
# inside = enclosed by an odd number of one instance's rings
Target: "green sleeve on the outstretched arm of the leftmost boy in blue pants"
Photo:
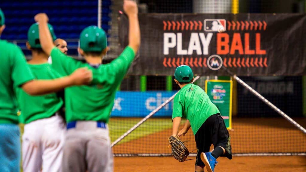
[[[14,86],[19,87],[22,84],[33,80],[34,75],[32,74],[21,49],[16,47],[14,52],[15,53],[12,56],[12,80]]]

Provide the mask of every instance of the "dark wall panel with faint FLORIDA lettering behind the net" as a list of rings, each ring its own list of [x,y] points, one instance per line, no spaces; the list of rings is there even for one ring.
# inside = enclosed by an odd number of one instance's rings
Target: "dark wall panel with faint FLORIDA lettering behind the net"
[[[240,77],[290,117],[303,116],[302,77]],[[237,84],[237,117],[280,117],[277,111]]]

